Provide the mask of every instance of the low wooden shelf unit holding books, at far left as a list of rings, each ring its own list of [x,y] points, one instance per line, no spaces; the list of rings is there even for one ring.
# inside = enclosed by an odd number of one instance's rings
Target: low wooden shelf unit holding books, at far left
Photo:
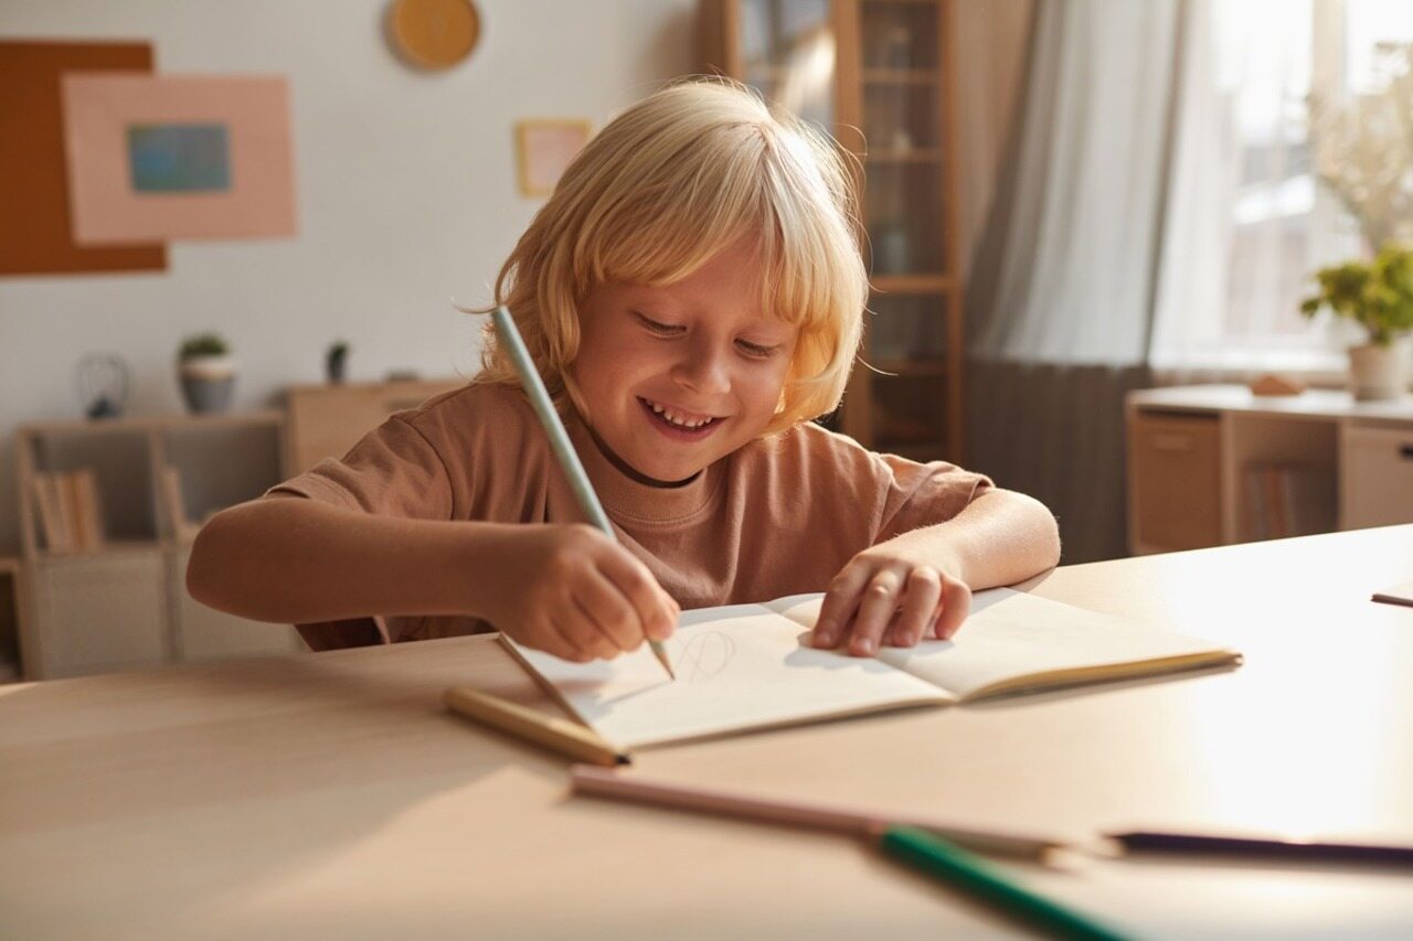
[[[300,650],[292,627],[212,610],[185,586],[201,521],[280,482],[283,430],[280,411],[21,425],[25,677]]]

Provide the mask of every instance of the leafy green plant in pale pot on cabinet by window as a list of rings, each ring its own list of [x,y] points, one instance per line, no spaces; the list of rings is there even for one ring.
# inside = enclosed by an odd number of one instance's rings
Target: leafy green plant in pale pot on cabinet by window
[[[1368,342],[1349,348],[1349,386],[1361,401],[1396,398],[1407,389],[1413,331],[1413,250],[1389,242],[1372,261],[1345,261],[1316,271],[1318,291],[1300,312],[1328,309],[1364,328]]]

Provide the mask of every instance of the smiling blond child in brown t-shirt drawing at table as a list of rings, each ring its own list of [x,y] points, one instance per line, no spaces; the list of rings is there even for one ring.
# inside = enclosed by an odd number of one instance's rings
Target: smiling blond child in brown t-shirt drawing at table
[[[647,97],[496,283],[620,541],[585,524],[487,325],[469,386],[211,520],[192,596],[315,649],[500,629],[584,661],[668,637],[681,608],[821,589],[818,647],[951,636],[972,589],[1053,567],[1058,534],[981,475],[810,421],[859,345],[852,213],[829,141],[745,88]]]

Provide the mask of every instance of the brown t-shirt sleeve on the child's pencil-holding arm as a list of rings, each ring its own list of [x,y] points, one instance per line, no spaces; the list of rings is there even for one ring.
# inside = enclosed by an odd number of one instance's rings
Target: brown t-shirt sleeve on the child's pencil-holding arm
[[[325,459],[266,496],[302,496],[377,516],[452,519],[452,489],[437,448],[394,415],[342,459]]]

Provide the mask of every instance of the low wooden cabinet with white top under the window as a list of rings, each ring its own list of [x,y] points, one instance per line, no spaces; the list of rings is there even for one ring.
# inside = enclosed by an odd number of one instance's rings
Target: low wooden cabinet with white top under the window
[[[1413,398],[1150,389],[1128,454],[1133,552],[1413,523]]]

